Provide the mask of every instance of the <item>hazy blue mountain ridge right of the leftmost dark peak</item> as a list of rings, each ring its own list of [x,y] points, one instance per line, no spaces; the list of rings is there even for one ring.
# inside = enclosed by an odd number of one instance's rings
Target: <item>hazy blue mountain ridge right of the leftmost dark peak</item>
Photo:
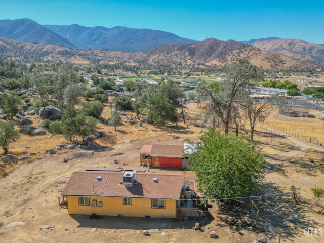
[[[175,34],[127,27],[85,27],[79,25],[44,25],[74,43],[79,49],[107,48],[110,51],[141,52],[166,44],[197,42]]]

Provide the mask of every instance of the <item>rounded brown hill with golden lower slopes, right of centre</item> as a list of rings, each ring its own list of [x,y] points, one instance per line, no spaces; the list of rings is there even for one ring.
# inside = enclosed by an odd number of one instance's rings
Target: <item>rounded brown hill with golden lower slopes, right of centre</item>
[[[145,54],[149,56],[150,63],[204,63],[225,68],[238,57],[245,57],[254,65],[273,71],[310,70],[320,65],[316,61],[303,63],[282,54],[261,51],[241,42],[219,41],[214,38],[187,45],[165,45]]]

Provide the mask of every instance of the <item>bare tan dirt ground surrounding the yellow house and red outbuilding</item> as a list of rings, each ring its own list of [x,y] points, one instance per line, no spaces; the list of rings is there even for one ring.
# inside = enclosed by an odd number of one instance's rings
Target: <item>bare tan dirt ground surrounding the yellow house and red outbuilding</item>
[[[316,111],[313,113],[317,117]],[[319,119],[292,119],[294,118],[275,114],[269,117],[271,123],[276,122],[280,126],[286,124],[292,127],[290,123],[295,124],[295,127],[297,124],[303,126],[302,123],[306,126],[310,121],[314,122],[316,126],[313,126],[321,131],[322,136],[323,124]],[[138,148],[143,144],[181,145],[184,142],[169,135],[178,134],[180,137],[198,139],[203,132],[203,129],[179,122],[177,126],[168,129],[146,127],[127,132],[123,126],[116,132],[104,130],[108,137],[114,137],[113,140],[118,143],[105,146],[104,141],[108,141],[106,138],[98,141],[96,146],[88,146],[86,149],[74,149],[56,155],[45,155],[42,151],[39,159],[18,163],[15,170],[0,178],[0,241],[248,243],[263,237],[268,242],[278,242],[281,232],[281,242],[324,242],[324,235],[312,236],[312,232],[316,230],[318,234],[324,233],[324,215],[313,212],[315,208],[310,209],[313,200],[311,188],[324,186],[324,165],[321,165],[324,163],[323,147],[302,142],[280,130],[274,138],[267,130],[269,124],[262,125],[265,127],[257,127],[255,140],[260,141],[259,149],[266,155],[267,174],[266,180],[260,184],[262,197],[252,198],[260,210],[258,225],[248,217],[251,203],[247,199],[231,208],[218,208],[209,201],[208,212],[199,221],[201,230],[198,231],[192,230],[197,222],[195,220],[126,217],[104,217],[96,220],[89,219],[88,216],[70,216],[66,208],[58,205],[58,196],[73,171],[89,167],[139,169]],[[143,134],[146,138],[141,137]],[[138,139],[135,140],[136,136]],[[55,138],[44,137],[44,143],[53,139]],[[127,140],[134,141],[122,142]],[[37,150],[34,143],[28,145],[30,151]],[[84,153],[78,153],[80,151]],[[65,163],[64,158],[70,159]],[[118,164],[114,160],[118,160]],[[191,171],[183,173],[186,179],[195,178]],[[300,188],[301,198],[297,203],[290,196],[292,185]],[[19,225],[22,223],[25,225]],[[146,229],[150,230],[149,236],[142,234]],[[215,238],[209,238],[211,231],[216,231]]]

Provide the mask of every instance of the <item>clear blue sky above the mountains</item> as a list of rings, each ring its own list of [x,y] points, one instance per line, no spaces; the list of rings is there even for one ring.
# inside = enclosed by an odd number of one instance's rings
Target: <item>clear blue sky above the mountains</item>
[[[324,1],[3,0],[0,19],[107,28],[125,26],[203,40],[279,37],[324,44]]]

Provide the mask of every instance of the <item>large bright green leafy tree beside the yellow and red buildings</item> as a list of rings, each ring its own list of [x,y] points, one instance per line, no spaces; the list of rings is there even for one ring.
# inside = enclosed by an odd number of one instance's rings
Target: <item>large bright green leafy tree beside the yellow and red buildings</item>
[[[264,178],[266,161],[255,150],[256,144],[210,128],[191,144],[188,168],[198,178],[199,191],[207,198],[246,196],[260,188],[256,182]]]

